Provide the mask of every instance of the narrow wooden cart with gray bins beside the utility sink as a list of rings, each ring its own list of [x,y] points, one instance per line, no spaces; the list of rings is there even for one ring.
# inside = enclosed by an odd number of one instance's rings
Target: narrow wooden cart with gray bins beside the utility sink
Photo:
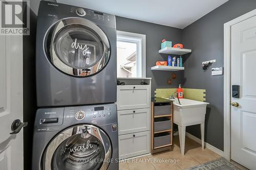
[[[152,98],[151,154],[170,150],[173,145],[173,101]]]

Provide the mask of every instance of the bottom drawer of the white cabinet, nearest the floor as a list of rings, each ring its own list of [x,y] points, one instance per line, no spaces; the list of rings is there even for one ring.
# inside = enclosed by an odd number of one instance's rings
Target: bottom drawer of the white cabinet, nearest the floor
[[[150,131],[118,136],[119,159],[150,153]]]

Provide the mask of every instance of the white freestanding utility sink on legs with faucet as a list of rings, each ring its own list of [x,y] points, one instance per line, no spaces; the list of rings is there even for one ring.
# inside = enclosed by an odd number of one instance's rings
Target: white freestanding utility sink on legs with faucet
[[[186,126],[200,124],[202,149],[204,149],[204,119],[209,103],[189,99],[168,99],[174,101],[173,121],[178,125],[181,154],[184,155]]]

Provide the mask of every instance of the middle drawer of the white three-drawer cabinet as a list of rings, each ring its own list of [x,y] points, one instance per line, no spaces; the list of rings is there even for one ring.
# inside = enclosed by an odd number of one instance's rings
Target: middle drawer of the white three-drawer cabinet
[[[117,114],[119,135],[150,130],[150,109],[121,110]]]

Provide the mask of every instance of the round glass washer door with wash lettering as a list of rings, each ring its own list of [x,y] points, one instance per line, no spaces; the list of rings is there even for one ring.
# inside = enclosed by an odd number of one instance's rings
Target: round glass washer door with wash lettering
[[[44,170],[105,170],[111,162],[108,135],[92,125],[78,125],[60,132],[42,157]]]

